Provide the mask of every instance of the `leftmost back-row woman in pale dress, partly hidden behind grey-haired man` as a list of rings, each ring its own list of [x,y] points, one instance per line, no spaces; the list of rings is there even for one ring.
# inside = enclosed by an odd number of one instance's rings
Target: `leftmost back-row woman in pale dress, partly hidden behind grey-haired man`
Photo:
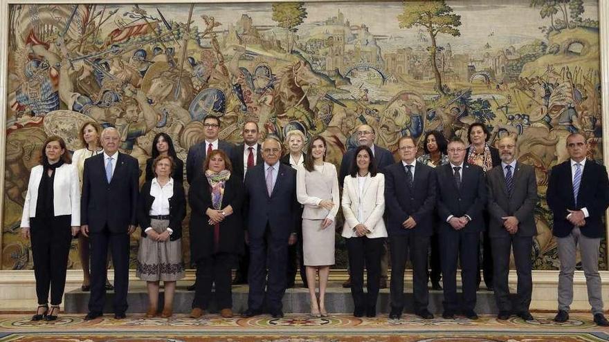
[[[100,145],[100,134],[102,133],[102,126],[97,122],[85,122],[80,127],[78,137],[80,142],[86,147],[74,151],[72,155],[72,163],[76,166],[78,171],[78,179],[80,180],[80,187],[82,188],[82,171],[84,170],[84,160],[102,153],[103,149]],[[78,234],[78,256],[80,257],[80,266],[82,267],[82,285],[80,289],[87,292],[91,289],[91,272],[89,272],[89,238],[84,234]],[[110,258],[108,258],[108,265]],[[106,289],[113,289],[110,282],[106,281]]]

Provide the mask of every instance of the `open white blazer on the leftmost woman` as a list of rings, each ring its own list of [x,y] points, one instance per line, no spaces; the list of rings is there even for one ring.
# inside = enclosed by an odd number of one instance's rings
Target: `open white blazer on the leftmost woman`
[[[21,215],[21,227],[30,227],[30,218],[36,216],[38,186],[44,167],[38,165],[30,173],[28,193]],[[63,164],[55,169],[53,180],[53,210],[55,216],[71,215],[72,226],[80,226],[80,178],[74,164]]]

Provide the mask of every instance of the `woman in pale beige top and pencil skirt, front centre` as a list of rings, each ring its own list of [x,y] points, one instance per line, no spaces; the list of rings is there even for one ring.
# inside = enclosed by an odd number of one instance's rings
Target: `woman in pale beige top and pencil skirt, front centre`
[[[311,139],[305,164],[296,173],[296,196],[302,211],[302,248],[307,267],[311,315],[327,316],[325,293],[330,266],[334,265],[334,227],[340,205],[338,175],[334,164],[325,162],[327,144],[323,137]],[[316,273],[319,274],[319,301]]]

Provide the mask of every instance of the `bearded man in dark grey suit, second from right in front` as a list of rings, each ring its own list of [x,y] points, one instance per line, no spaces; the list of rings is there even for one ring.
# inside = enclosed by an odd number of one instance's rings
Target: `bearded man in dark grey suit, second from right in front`
[[[525,321],[532,321],[529,312],[533,277],[531,248],[537,235],[534,209],[537,202],[535,169],[516,162],[516,138],[499,140],[501,164],[487,172],[489,189],[489,237],[493,249],[493,282],[500,320],[509,319],[508,275],[509,254],[513,248],[518,274],[518,307],[513,312]]]

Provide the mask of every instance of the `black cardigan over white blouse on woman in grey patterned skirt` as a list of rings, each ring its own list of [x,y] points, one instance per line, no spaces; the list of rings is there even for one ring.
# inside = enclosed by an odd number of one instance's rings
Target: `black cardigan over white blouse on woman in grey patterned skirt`
[[[138,200],[138,224],[142,229],[142,236],[146,237],[144,230],[150,227],[150,208],[154,202],[154,196],[150,196],[152,180],[147,180],[140,191]],[[174,231],[170,235],[170,240],[178,240],[182,237],[182,220],[186,216],[186,198],[181,182],[174,180],[174,196],[169,198],[169,227]]]

